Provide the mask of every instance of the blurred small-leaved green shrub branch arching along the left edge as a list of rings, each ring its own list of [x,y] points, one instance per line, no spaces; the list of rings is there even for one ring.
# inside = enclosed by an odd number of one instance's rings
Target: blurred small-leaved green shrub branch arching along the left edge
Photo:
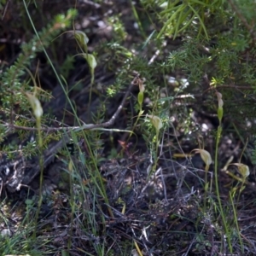
[[[44,100],[49,99],[49,94],[39,89],[29,71],[29,67],[37,54],[43,48],[47,48],[62,30],[67,29],[71,25],[76,14],[76,10],[70,9],[67,15],[57,15],[55,20],[41,32],[38,32],[38,35],[35,35],[30,42],[22,44],[17,60],[11,67],[4,70],[0,79],[0,111],[3,113],[3,122],[0,125],[0,137],[2,141],[4,137],[13,131],[13,125],[25,127],[35,126],[32,113],[29,112],[30,104],[27,101],[26,93],[32,91],[34,93],[37,92],[38,98]],[[25,79],[26,73],[29,74],[30,79]],[[33,86],[31,80],[33,81]],[[22,116],[20,116],[21,114]],[[20,131],[20,136],[24,136],[26,133],[26,131]],[[31,148],[30,146],[30,143],[28,143],[27,147]]]

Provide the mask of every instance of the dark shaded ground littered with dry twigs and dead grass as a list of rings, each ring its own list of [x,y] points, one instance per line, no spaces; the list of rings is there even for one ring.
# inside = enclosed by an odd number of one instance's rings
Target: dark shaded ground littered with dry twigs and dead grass
[[[45,19],[45,17],[52,17],[61,13],[62,10],[72,7],[67,3],[61,3],[58,1],[41,3],[42,6],[38,7],[41,9],[41,15],[32,15],[38,30],[41,26],[45,26],[45,22],[49,19]],[[110,16],[109,9],[112,9],[114,14],[121,14],[127,33],[125,42],[123,42],[125,47],[131,49],[134,45],[143,44],[143,38],[133,27],[134,18],[131,15],[131,6],[126,1],[120,5],[116,3],[99,5],[90,1],[84,1],[84,3],[81,1],[78,3],[77,9],[79,9],[79,18],[75,26],[86,32],[90,38],[89,50],[90,52],[98,50],[100,61],[96,67],[97,90],[92,93],[90,106],[86,103],[89,102],[90,95],[89,68],[86,61],[80,57],[75,58],[73,69],[67,73],[69,97],[72,102],[75,102],[77,114],[83,122],[95,123],[96,119],[92,113],[96,114],[98,109],[102,110],[103,105],[107,106],[107,109],[102,119],[97,121],[108,121],[119,107],[129,83],[135,77],[131,71],[130,77],[125,81],[119,93],[113,98],[107,97],[108,87],[114,84],[116,79],[119,79],[119,62],[123,61],[115,59],[112,49],[102,47],[103,44],[114,40],[116,35],[113,32],[113,26],[107,25],[107,18]],[[33,14],[33,5],[31,5],[30,11]],[[15,4],[9,2],[0,32],[0,60],[5,63],[2,66],[3,69],[15,61],[20,51],[20,40],[26,42],[31,37],[32,32],[24,29],[24,21],[22,21],[23,27],[18,25],[22,24],[20,20],[22,20],[21,15],[18,15]],[[26,26],[28,25],[26,24]],[[150,31],[150,26],[148,26],[148,31]],[[163,50],[178,48],[182,44],[181,40],[182,38],[178,38],[174,42],[168,42],[170,44]],[[53,44],[54,47],[49,49],[49,53],[55,66],[61,70],[67,54],[75,55],[77,53],[76,44],[68,39],[67,35],[58,38]],[[154,49],[149,48],[139,54],[149,61],[154,54]],[[44,54],[39,54],[37,61],[33,64],[37,62],[39,62],[39,79],[42,88],[52,92],[54,97],[54,100],[44,102],[44,112],[53,111],[57,120],[66,125],[77,125],[71,108],[67,104],[67,97],[57,83]],[[32,73],[35,73],[36,68],[37,65],[32,65]],[[172,76],[178,77],[180,74],[177,72]],[[74,86],[74,84],[77,85]],[[203,86],[207,89],[207,83]],[[131,129],[131,114],[137,115],[134,109],[137,93],[137,86],[133,86],[129,98],[125,101],[125,108],[111,128]],[[207,195],[207,211],[204,211],[205,171],[203,161],[198,154],[192,160],[184,155],[189,154],[194,148],[199,148],[197,143],[199,136],[203,136],[205,148],[212,154],[212,157],[215,152],[214,131],[218,127],[218,119],[216,114],[212,114],[207,108],[208,102],[213,101],[212,94],[211,92],[205,94],[195,92],[194,94],[195,101],[193,102],[176,100],[172,103],[172,118],[175,121],[164,133],[165,139],[154,175],[148,174],[152,162],[148,143],[145,143],[142,130],[135,130],[137,137],[130,137],[129,133],[123,132],[110,134],[108,131],[98,137],[102,146],[97,151],[99,159],[97,166],[104,179],[109,206],[102,203],[102,206],[92,207],[95,195],[96,203],[102,201],[101,195],[91,193],[93,186],[88,185],[87,201],[79,201],[81,187],[73,187],[74,197],[77,200],[76,206],[85,211],[94,211],[96,214],[97,236],[88,229],[89,221],[83,214],[79,215],[79,211],[76,212],[73,225],[70,226],[72,219],[69,204],[70,187],[68,178],[63,174],[66,173],[63,170],[67,170],[68,159],[64,154],[57,154],[55,160],[44,169],[45,195],[38,224],[40,239],[36,243],[37,251],[44,252],[45,255],[61,255],[61,250],[67,250],[69,232],[72,228],[73,236],[68,250],[70,255],[99,255],[96,253],[97,244],[105,245],[106,251],[102,255],[139,255],[132,241],[137,242],[143,255],[224,255],[224,253],[228,255],[229,250],[224,241],[222,220],[218,209],[216,210],[215,184],[213,182],[212,193]],[[189,113],[185,109],[190,109],[191,112]],[[186,127],[183,125],[185,120],[189,120],[189,125]],[[53,125],[56,125],[56,122],[53,122]],[[254,166],[251,163],[249,151],[246,150],[242,162],[250,167],[250,176],[239,201],[236,201],[237,197],[235,197],[238,226],[244,243],[244,254],[241,254],[241,245],[236,234],[237,229],[232,217],[229,195],[229,191],[235,187],[237,182],[221,169],[230,157],[234,157],[233,162],[239,161],[245,141],[242,141],[236,132],[231,131],[228,114],[224,117],[224,128],[226,130],[224,129],[224,136],[218,148],[218,186],[220,197],[224,202],[227,223],[234,232],[230,235],[234,249],[232,255],[254,255],[253,252],[256,252]],[[89,158],[88,145],[80,137],[79,142],[79,148],[84,154],[84,158]],[[125,146],[120,142],[125,142]],[[9,137],[4,143],[9,143]],[[84,185],[87,186],[90,183],[88,179],[90,171],[86,170],[81,163],[78,156],[79,149],[73,145],[72,147],[73,161],[78,170],[85,170]],[[233,169],[233,172],[237,174],[236,169]],[[213,167],[208,172],[208,180],[211,179],[211,176],[214,176]],[[5,216],[9,224],[6,225],[6,222],[0,221],[0,230],[6,230],[8,226],[13,233],[12,236],[15,235],[15,232],[19,230],[20,223],[25,218],[26,214],[24,213],[28,212],[27,200],[38,195],[38,184],[37,176],[28,183],[29,189],[22,188],[14,193],[9,193],[4,188],[1,189],[1,216]],[[112,209],[113,216],[109,215],[108,207]],[[81,210],[81,212],[83,211]],[[30,212],[30,214],[32,213],[33,211]]]

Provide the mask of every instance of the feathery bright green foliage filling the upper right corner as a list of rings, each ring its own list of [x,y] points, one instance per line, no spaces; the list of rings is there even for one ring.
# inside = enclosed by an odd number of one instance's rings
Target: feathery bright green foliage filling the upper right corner
[[[246,117],[247,121],[253,122],[256,115],[252,92],[256,85],[253,71],[255,38],[251,25],[253,9],[248,7],[255,6],[255,3],[230,0],[227,3],[142,1],[142,4],[152,12],[150,19],[162,24],[158,35],[150,38],[151,42],[162,42],[164,38],[168,38],[167,42],[172,44],[172,41],[182,38],[177,49],[166,51],[160,62],[154,61],[154,71],[150,75],[155,77],[156,73],[181,73],[189,82],[183,92],[191,96],[201,95],[205,101],[205,104],[201,102],[206,106],[204,110],[210,112],[214,112],[214,98],[210,92],[218,88],[223,94],[225,113],[230,123],[238,122],[242,133],[256,132],[244,120]],[[161,82],[158,86],[163,89],[166,84]],[[167,90],[172,96],[172,90]],[[247,90],[251,91],[250,96],[247,96]],[[191,103],[196,105],[195,101]]]

